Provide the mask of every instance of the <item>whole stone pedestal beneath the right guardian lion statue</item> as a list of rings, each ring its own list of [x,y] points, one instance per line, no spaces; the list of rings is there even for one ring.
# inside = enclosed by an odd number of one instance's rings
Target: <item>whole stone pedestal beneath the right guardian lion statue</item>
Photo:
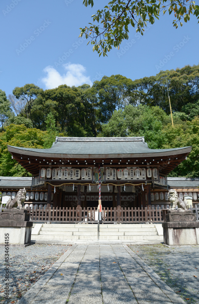
[[[191,210],[168,210],[162,226],[166,245],[199,245],[199,222]]]

